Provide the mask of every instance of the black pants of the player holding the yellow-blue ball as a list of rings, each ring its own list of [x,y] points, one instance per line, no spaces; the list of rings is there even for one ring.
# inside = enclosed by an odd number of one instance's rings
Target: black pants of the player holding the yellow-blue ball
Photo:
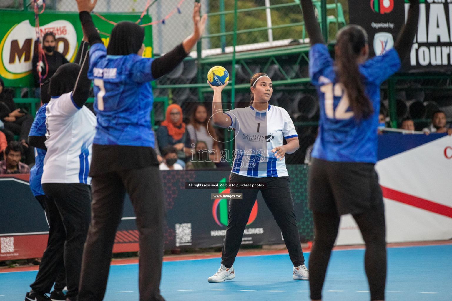
[[[228,269],[234,264],[235,256],[237,256],[242,243],[243,231],[250,218],[259,190],[281,229],[292,264],[295,267],[304,264],[305,259],[301,250],[300,234],[298,233],[297,219],[293,209],[289,177],[253,178],[231,173],[230,182],[266,182],[267,188],[231,189],[231,194],[241,193],[243,199],[231,199],[229,201],[226,238],[221,254],[221,264],[224,264]]]

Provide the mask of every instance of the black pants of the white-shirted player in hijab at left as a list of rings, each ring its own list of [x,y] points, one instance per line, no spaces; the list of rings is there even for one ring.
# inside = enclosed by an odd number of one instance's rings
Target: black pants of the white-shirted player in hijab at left
[[[66,296],[71,301],[75,301],[79,290],[83,245],[91,218],[91,187],[80,183],[46,183],[42,184],[42,190],[55,202],[64,232],[60,227],[57,242],[58,248],[63,252],[54,254],[55,258],[51,257],[52,254],[44,253],[41,261],[41,266],[44,265],[44,267],[40,266],[39,269],[46,269],[49,275],[56,275],[63,266],[62,258],[66,268]]]

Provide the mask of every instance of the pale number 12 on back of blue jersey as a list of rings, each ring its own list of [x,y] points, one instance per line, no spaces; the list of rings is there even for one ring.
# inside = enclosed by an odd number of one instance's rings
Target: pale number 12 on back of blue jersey
[[[329,83],[320,87],[320,92],[325,94],[325,114],[328,118],[347,120],[352,118],[353,112],[347,111],[350,106],[347,92],[342,83]],[[334,97],[341,97],[336,110],[334,111]]]

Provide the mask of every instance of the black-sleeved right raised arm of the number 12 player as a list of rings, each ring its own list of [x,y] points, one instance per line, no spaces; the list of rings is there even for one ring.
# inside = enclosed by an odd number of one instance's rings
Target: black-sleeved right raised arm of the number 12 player
[[[410,0],[410,9],[408,10],[408,19],[405,26],[397,37],[395,42],[395,50],[399,54],[400,61],[404,61],[410,54],[411,46],[413,46],[414,36],[418,30],[419,22],[419,0]]]

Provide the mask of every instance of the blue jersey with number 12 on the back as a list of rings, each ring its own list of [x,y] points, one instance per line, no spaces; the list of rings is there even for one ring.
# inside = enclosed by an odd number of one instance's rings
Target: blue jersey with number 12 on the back
[[[312,46],[309,75],[319,95],[320,120],[311,156],[333,162],[376,163],[380,85],[399,69],[400,58],[395,49],[359,65],[374,113],[367,119],[356,120],[344,87],[336,79],[328,48],[324,44]]]

